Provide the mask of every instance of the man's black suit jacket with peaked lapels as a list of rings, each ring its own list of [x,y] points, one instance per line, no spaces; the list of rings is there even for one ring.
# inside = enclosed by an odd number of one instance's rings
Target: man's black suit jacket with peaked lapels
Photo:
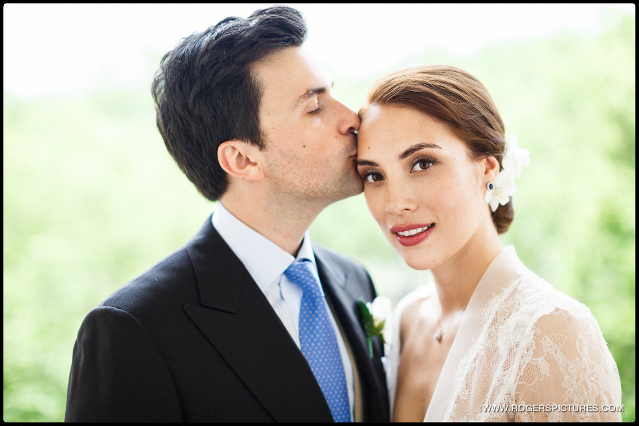
[[[357,302],[367,272],[313,244],[328,302],[351,347],[364,421],[389,421],[375,338]],[[66,421],[332,422],[304,355],[210,218],[182,249],[89,312],[73,348]]]

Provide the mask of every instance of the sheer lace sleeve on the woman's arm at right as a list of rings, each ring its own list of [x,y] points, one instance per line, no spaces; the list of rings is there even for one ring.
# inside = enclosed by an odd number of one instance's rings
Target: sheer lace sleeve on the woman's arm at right
[[[590,312],[537,320],[518,370],[518,422],[620,422],[619,371]]]

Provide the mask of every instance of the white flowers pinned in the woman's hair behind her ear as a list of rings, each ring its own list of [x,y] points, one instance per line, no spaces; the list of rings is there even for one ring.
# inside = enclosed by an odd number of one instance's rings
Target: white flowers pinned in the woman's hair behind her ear
[[[530,152],[525,148],[517,147],[517,135],[512,134],[506,140],[506,152],[502,158],[502,170],[497,175],[495,183],[486,185],[486,203],[494,212],[499,205],[506,205],[517,192],[515,179],[520,178],[521,168],[530,164]]]

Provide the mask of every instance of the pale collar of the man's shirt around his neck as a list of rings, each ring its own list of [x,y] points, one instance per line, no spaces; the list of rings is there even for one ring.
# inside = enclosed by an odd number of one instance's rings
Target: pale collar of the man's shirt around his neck
[[[286,268],[296,259],[308,259],[314,269],[317,269],[308,231],[304,233],[302,245],[297,257],[294,258],[264,235],[233,216],[220,201],[217,201],[211,220],[215,230],[242,261],[261,290],[265,290],[274,282],[279,282]]]

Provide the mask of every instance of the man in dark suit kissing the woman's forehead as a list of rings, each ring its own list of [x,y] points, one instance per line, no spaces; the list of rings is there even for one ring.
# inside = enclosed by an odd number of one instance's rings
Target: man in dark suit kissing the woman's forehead
[[[274,6],[162,59],[158,129],[219,202],[184,248],[87,315],[67,421],[389,420],[383,348],[369,356],[357,311],[373,284],[307,233],[362,182],[357,114],[332,97],[305,36],[299,12]]]

